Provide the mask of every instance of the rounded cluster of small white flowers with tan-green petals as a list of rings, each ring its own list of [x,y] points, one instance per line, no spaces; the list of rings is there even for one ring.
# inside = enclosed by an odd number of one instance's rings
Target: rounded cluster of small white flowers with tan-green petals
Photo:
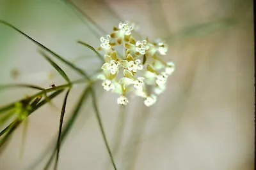
[[[157,39],[151,43],[148,39],[136,41],[132,37],[134,24],[132,22],[120,23],[119,27],[113,28],[113,33],[101,37],[99,50],[104,50],[105,63],[102,66],[103,73],[98,78],[103,80],[105,90],[120,94],[118,104],[129,103],[127,94],[134,92],[136,96],[143,97],[146,106],[156,103],[157,96],[166,87],[166,81],[175,65],[173,62],[164,62],[157,55],[166,55],[168,47]],[[113,40],[113,41],[111,41]],[[118,55],[115,46],[122,46],[125,55]],[[122,76],[118,74],[122,72]],[[140,76],[138,76],[138,74]],[[148,94],[146,85],[154,87],[154,94]]]

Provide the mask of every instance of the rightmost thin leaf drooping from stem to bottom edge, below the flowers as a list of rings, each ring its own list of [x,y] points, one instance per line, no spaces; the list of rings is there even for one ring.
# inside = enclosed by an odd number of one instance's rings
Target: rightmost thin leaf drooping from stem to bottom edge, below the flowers
[[[98,122],[99,127],[100,127],[100,132],[101,132],[102,137],[104,139],[104,143],[105,143],[106,148],[108,150],[108,154],[109,154],[109,157],[111,159],[112,165],[113,165],[114,169],[116,170],[115,161],[114,161],[113,155],[112,155],[111,150],[110,150],[109,145],[108,145],[108,140],[106,138],[106,134],[104,132],[104,127],[103,127],[102,122],[101,122],[100,113],[99,113],[99,109],[98,109],[97,102],[96,102],[96,97],[95,97],[95,94],[94,94],[94,91],[93,91],[92,88],[90,88],[90,92],[92,94],[93,109],[95,111],[97,122]]]

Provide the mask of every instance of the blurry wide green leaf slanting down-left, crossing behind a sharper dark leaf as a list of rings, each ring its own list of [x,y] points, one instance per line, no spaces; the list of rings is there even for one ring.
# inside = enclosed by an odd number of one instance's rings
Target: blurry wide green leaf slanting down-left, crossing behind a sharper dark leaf
[[[63,132],[60,136],[60,143],[64,141],[64,139],[67,137],[68,132],[70,132],[70,129],[72,128],[77,116],[79,115],[79,111],[81,107],[83,106],[84,100],[88,97],[89,87],[86,87],[81,95],[81,97],[78,100],[78,103],[76,104],[75,110],[72,113],[72,117],[67,122],[67,125],[65,125],[65,128],[63,129]],[[61,146],[61,145],[60,145]],[[44,167],[44,170],[47,170],[49,166],[51,165],[51,162],[54,158],[55,153],[57,152],[57,147],[54,148],[54,151],[52,152],[51,157],[49,158],[47,164]],[[34,165],[35,166],[35,165]],[[32,169],[35,167],[32,167]]]

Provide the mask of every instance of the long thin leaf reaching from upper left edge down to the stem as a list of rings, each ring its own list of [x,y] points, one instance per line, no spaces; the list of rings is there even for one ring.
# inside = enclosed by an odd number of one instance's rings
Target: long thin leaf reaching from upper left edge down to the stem
[[[52,50],[50,50],[49,48],[47,48],[46,46],[42,45],[41,43],[39,43],[38,41],[36,41],[35,39],[29,37],[27,34],[25,34],[24,32],[20,31],[19,29],[17,29],[16,27],[14,27],[13,25],[9,24],[8,22],[5,22],[3,20],[0,20],[1,24],[4,24],[8,27],[11,27],[12,29],[14,29],[15,31],[20,32],[20,34],[22,34],[23,36],[25,36],[26,38],[30,39],[31,41],[33,41],[33,43],[35,43],[36,45],[40,46],[41,48],[43,48],[44,50],[46,50],[47,52],[51,53],[54,57],[56,57],[57,59],[61,60],[62,62],[64,62],[65,64],[67,64],[67,66],[72,67],[74,70],[76,70],[78,73],[82,74],[84,77],[89,79],[89,76],[84,73],[84,71],[82,69],[79,69],[78,67],[76,67],[74,64],[72,64],[71,62],[69,62],[66,59],[63,59],[63,57],[61,57],[60,55],[58,55],[57,53],[53,52]]]

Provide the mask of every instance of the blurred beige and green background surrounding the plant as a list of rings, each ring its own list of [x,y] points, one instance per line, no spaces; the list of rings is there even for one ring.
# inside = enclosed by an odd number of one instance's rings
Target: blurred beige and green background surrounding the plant
[[[99,69],[99,59],[77,40],[97,47],[100,36],[124,20],[140,25],[141,38],[166,39],[169,52],[163,60],[175,62],[176,70],[154,106],[145,108],[134,98],[122,110],[118,96],[104,92],[100,83],[95,87],[118,169],[254,169],[252,1],[0,0],[0,19],[92,72]],[[73,80],[79,77],[58,64]],[[1,84],[47,88],[63,82],[36,45],[0,25]],[[72,90],[67,117],[82,90],[83,85]],[[1,91],[0,106],[33,93]],[[1,152],[0,169],[43,169],[49,155],[40,155],[56,138],[63,95],[29,117],[22,159],[19,127]],[[112,169],[90,99],[63,143],[59,169]]]

